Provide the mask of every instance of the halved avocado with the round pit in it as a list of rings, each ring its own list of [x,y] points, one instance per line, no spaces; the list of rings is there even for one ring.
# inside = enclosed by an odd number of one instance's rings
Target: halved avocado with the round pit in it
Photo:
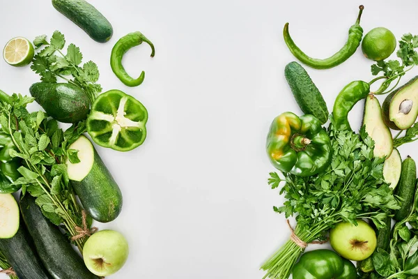
[[[383,102],[382,112],[389,128],[410,128],[418,116],[418,76],[390,93]]]

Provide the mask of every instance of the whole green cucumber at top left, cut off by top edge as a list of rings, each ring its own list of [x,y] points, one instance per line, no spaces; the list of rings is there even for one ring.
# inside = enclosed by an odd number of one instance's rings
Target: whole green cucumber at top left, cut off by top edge
[[[52,6],[98,43],[106,43],[113,35],[109,20],[84,0],[52,0]]]

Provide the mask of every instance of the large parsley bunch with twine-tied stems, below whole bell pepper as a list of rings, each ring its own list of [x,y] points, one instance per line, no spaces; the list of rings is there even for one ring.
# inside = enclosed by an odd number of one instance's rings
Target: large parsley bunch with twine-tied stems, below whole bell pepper
[[[300,177],[284,173],[270,174],[269,184],[277,188],[285,182],[284,206],[274,211],[296,216],[295,234],[304,242],[323,240],[336,223],[356,224],[357,218],[368,218],[376,227],[385,225],[385,218],[399,209],[392,190],[383,179],[383,158],[373,157],[374,142],[364,127],[359,134],[350,130],[328,129],[334,155],[327,169],[314,176]],[[304,249],[288,241],[268,259],[261,269],[264,278],[288,278]]]

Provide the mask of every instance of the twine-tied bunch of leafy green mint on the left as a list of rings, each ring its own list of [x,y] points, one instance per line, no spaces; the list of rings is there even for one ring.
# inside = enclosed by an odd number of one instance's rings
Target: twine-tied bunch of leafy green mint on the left
[[[24,195],[36,197],[36,204],[52,223],[63,224],[68,236],[76,236],[75,228],[82,227],[82,209],[70,186],[65,160],[79,162],[77,151],[68,146],[85,132],[85,123],[73,124],[63,132],[45,112],[26,110],[33,98],[13,94],[10,100],[12,105],[0,104],[0,124],[17,147],[17,151],[10,150],[10,156],[23,162],[18,169],[22,177],[13,184],[21,185]],[[75,241],[80,251],[85,241],[86,237]]]

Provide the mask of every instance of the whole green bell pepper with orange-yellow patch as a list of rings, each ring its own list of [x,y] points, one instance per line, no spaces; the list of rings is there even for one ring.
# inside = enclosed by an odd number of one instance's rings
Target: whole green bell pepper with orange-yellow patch
[[[267,137],[267,153],[274,167],[297,176],[311,176],[330,165],[330,137],[313,115],[284,112],[274,119]]]

